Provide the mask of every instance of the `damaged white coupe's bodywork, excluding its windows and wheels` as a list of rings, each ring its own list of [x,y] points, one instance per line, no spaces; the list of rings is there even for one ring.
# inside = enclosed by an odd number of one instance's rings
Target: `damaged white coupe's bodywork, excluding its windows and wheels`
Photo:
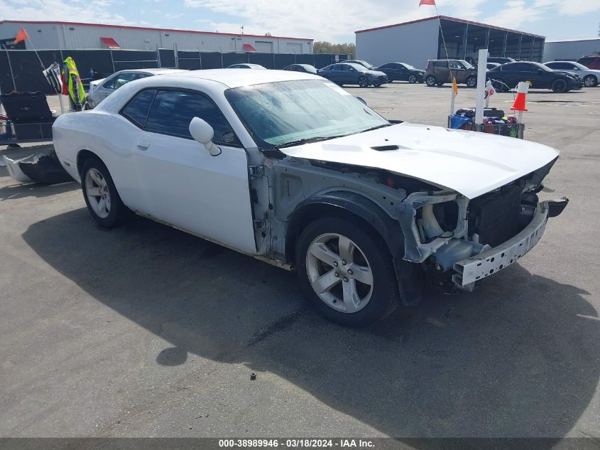
[[[228,92],[293,82],[324,83],[327,90],[315,86],[336,99],[343,96],[348,105],[369,114],[369,120],[385,122],[347,91],[316,75],[198,70],[137,80],[92,111],[61,115],[53,127],[55,151],[65,170],[80,182],[82,159],[92,155],[102,161],[122,202],[134,212],[285,268],[294,264],[286,245],[296,218],[315,203],[349,210],[371,205],[377,210],[373,214],[383,222],[391,218],[398,227],[383,234],[391,240],[404,236],[403,250],[389,244],[394,264],[425,264],[434,258],[437,270],[453,274],[454,284],[464,289],[487,276],[482,271],[497,272],[530,250],[541,237],[547,217],[557,215],[549,212],[548,203],[535,206],[535,189],[541,189],[542,178],[559,152],[520,139],[386,122],[383,128],[358,134],[261,149]],[[242,100],[244,89],[237,90]],[[136,126],[121,112],[144,90],[200,92],[227,119],[239,144],[218,144],[220,154],[212,156],[207,151],[210,143]],[[393,179],[385,181],[385,173]],[[414,183],[429,187],[408,186]],[[496,198],[509,185],[535,200],[522,207],[529,208],[528,225],[497,247],[483,245],[467,233],[467,205],[477,201],[473,199]],[[437,235],[440,225],[430,220],[432,205],[445,202],[456,203],[457,225],[452,235]],[[484,258],[484,263],[478,258]],[[411,304],[406,298],[408,294],[403,301]]]

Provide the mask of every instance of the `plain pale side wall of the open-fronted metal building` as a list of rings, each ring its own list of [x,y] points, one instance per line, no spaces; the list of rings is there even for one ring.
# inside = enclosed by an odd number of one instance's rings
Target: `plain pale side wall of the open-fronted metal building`
[[[427,60],[437,58],[437,21],[408,23],[356,33],[356,58],[373,65],[408,63],[427,67]]]

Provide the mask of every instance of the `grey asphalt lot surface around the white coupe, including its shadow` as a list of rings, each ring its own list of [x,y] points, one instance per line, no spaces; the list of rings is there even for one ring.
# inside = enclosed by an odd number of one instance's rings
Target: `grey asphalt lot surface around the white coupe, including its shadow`
[[[445,122],[448,87],[348,90]],[[75,183],[0,168],[0,436],[597,439],[600,88],[528,108],[525,137],[562,150],[542,198],[567,209],[474,293],[363,330],[315,314],[293,274],[141,218],[102,230]]]

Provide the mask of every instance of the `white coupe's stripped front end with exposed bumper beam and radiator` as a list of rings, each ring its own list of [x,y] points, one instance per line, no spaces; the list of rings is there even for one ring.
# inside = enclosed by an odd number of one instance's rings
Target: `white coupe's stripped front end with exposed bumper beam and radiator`
[[[536,195],[554,162],[471,200],[453,191],[411,193],[400,206],[404,259],[423,264],[441,284],[472,291],[523,257],[547,218],[562,213],[568,199],[540,203]]]

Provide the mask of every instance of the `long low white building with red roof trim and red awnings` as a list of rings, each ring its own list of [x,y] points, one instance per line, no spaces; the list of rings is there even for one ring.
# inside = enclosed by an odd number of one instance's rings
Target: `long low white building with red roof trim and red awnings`
[[[11,45],[24,27],[31,39]],[[138,26],[51,21],[0,21],[0,44],[8,48],[37,50],[55,48],[127,48],[156,50],[178,48],[200,51],[256,51],[261,53],[312,53],[312,39],[255,36],[209,31],[171,30]]]

